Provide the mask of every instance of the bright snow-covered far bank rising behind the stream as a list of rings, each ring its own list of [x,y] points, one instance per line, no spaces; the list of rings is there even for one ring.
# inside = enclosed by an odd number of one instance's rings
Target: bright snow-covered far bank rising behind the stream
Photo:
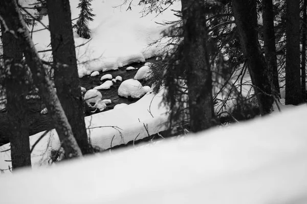
[[[76,19],[80,13],[77,9],[78,3],[79,0],[70,1],[72,19]],[[92,13],[96,15],[93,17],[94,21],[89,22],[92,38],[89,41],[74,32],[75,45],[78,46],[76,55],[79,77],[89,75],[93,71],[116,70],[118,67],[133,62],[145,62],[145,59],[159,55],[167,39],[152,46],[148,45],[160,39],[162,31],[167,30],[168,26],[163,27],[156,22],[177,20],[178,17],[173,15],[171,9],[181,10],[180,2],[174,2],[158,16],[156,13],[149,13],[142,17],[144,13],[141,11],[144,7],[138,6],[138,2],[130,4],[131,10],[128,11],[126,10],[129,4],[122,5],[122,0],[93,1],[91,4]],[[32,12],[32,9],[28,10]],[[48,25],[48,16],[43,16],[41,22]],[[50,32],[35,32],[43,28],[40,23],[34,28],[33,41],[37,50],[49,49],[47,46],[50,44]],[[40,56],[49,60],[51,52],[40,53]]]

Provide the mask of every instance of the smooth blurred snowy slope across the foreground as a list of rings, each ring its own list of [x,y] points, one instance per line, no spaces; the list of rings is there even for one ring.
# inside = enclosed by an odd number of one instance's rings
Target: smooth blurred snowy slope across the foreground
[[[4,203],[307,203],[307,108],[1,178]]]

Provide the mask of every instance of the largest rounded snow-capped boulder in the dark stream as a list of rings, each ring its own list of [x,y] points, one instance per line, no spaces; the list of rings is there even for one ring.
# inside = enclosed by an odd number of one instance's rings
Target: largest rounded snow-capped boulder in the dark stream
[[[118,88],[118,95],[122,97],[140,98],[145,94],[142,84],[138,80],[129,79],[121,83]]]

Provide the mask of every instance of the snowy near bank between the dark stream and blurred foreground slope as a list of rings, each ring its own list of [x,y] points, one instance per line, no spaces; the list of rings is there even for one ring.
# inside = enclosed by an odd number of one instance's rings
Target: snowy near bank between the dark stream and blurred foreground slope
[[[89,90],[87,93],[89,92],[91,92],[90,95],[96,96],[94,90]],[[126,144],[129,141],[143,139],[148,137],[148,133],[153,135],[166,130],[165,122],[168,120],[168,114],[166,114],[166,107],[160,105],[162,96],[163,89],[157,95],[148,92],[134,104],[85,117],[87,134],[92,145],[101,149],[108,149],[120,144]],[[97,97],[101,98],[101,94]],[[105,104],[97,100],[97,98],[94,99],[95,107],[103,110]],[[30,146],[43,133],[31,136]],[[9,149],[9,145],[0,146],[0,151]],[[35,146],[31,154],[33,168],[47,165],[50,160],[51,150],[58,150],[59,148],[58,135],[55,130],[52,130]],[[11,167],[10,160],[10,150],[0,152],[0,170]],[[6,170],[6,172],[9,172],[9,170]]]

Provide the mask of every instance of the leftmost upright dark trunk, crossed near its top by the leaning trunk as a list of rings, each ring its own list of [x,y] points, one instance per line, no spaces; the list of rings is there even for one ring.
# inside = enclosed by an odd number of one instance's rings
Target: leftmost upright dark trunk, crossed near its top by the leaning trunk
[[[1,24],[4,29],[4,25]],[[11,143],[11,160],[13,170],[31,166],[29,131],[27,122],[27,84],[26,67],[21,65],[23,52],[17,39],[8,32],[2,32],[3,59],[5,61],[5,86]]]

